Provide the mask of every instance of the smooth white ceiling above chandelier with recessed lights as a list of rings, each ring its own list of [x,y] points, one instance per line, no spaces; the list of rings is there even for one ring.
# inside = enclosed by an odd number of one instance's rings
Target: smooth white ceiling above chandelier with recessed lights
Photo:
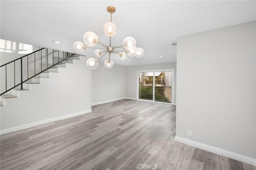
[[[108,44],[103,25],[110,22],[108,6],[114,6],[112,22],[117,33],[112,45],[127,36],[145,51],[143,58],[115,64],[139,65],[176,61],[177,37],[256,20],[256,1],[0,1],[0,38],[75,53],[72,44],[85,32],[95,32]],[[55,44],[52,41],[59,41]],[[97,46],[96,47],[101,47]],[[93,49],[82,55],[93,57]],[[163,55],[163,57],[159,57]],[[108,56],[104,56],[103,61]]]

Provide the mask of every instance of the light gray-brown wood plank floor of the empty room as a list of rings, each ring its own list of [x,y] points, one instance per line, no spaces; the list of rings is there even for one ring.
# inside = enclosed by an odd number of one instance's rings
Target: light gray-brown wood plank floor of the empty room
[[[1,170],[136,170],[142,164],[157,170],[256,170],[175,142],[175,122],[173,105],[128,99],[96,105],[86,115],[2,135]]]

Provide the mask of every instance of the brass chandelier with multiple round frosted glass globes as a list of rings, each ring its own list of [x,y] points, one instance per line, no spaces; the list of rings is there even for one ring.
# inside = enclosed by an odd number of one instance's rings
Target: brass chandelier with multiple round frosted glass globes
[[[141,58],[144,56],[144,49],[136,47],[136,40],[133,37],[126,37],[123,40],[123,45],[121,46],[112,46],[111,37],[116,34],[116,25],[112,22],[112,13],[116,11],[116,8],[113,6],[108,6],[108,12],[110,13],[110,22],[107,22],[103,26],[104,33],[109,36],[109,45],[106,45],[99,41],[98,36],[94,32],[86,32],[83,36],[83,42],[74,42],[73,49],[81,53],[86,48],[94,48],[96,44],[103,46],[103,48],[96,48],[94,51],[94,57],[88,58],[86,65],[89,69],[96,69],[99,65],[99,59],[103,57],[106,53],[109,53],[108,59],[104,62],[106,68],[110,69],[113,67],[114,62],[110,59],[111,53],[117,53],[120,60],[126,60],[127,55],[130,57]],[[94,48],[95,49],[95,48]]]

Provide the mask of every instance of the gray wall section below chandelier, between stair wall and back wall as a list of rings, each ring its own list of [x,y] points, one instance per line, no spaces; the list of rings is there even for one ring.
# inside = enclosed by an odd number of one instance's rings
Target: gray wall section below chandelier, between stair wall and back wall
[[[125,97],[126,67],[116,65],[107,69],[100,62],[97,69],[92,70],[92,104],[111,101]]]

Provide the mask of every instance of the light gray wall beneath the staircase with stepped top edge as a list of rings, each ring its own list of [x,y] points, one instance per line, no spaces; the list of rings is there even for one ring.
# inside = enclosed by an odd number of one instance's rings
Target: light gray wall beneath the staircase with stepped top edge
[[[16,99],[6,99],[0,107],[1,130],[91,109],[91,70],[86,57],[60,68],[30,91],[20,91]],[[70,108],[73,112],[70,112]]]

